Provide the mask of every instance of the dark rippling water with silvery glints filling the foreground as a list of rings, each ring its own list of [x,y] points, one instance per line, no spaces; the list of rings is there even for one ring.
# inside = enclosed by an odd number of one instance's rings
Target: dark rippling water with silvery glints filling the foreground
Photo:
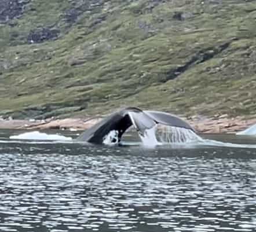
[[[18,143],[9,134],[0,131],[0,231],[255,231],[256,149]]]

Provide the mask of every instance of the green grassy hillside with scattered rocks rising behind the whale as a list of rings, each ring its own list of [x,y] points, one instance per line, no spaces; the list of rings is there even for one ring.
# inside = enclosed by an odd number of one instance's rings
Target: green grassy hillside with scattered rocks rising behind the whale
[[[0,115],[256,114],[255,0],[2,0]]]

